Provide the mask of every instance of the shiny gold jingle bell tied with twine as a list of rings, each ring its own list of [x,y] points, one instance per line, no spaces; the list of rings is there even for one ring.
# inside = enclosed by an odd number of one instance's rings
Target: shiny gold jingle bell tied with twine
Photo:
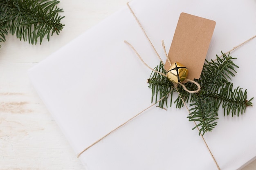
[[[170,66],[167,72],[167,77],[171,82],[180,83],[186,79],[188,73],[188,68],[178,62],[175,62]]]

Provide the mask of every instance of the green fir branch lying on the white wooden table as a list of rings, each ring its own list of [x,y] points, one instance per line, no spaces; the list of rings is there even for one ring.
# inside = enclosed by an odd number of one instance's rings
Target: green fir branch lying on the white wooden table
[[[45,38],[63,29],[63,10],[56,5],[58,0],[0,0],[0,41],[5,35],[16,33],[17,38],[31,44],[40,44]]]

